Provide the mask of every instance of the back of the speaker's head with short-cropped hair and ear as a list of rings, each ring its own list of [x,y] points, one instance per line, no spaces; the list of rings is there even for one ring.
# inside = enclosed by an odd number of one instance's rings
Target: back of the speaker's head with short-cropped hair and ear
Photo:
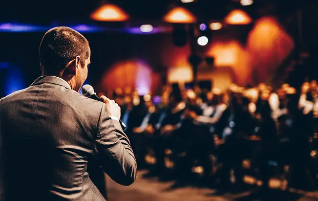
[[[40,44],[41,70],[45,75],[58,75],[76,56],[83,66],[89,54],[89,42],[82,34],[69,27],[55,27],[44,34]]]

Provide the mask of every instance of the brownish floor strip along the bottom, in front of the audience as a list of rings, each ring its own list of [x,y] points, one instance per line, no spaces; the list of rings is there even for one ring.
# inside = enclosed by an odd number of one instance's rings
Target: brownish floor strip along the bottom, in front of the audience
[[[131,186],[121,186],[107,178],[108,201],[227,201],[227,200],[261,200],[250,196],[250,192],[242,194],[225,194],[224,196],[213,195],[214,190],[199,187],[182,187],[171,190],[174,182],[159,182],[156,178],[143,178],[146,171],[139,171],[136,182]],[[313,201],[318,200],[317,192],[268,192],[264,200],[270,201]]]

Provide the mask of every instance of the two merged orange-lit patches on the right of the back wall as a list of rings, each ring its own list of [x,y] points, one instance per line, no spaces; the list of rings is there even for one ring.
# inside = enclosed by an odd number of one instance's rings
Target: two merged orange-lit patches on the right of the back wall
[[[249,32],[245,48],[237,40],[216,40],[210,44],[207,54],[215,56],[217,67],[231,66],[237,83],[245,85],[270,81],[292,49],[293,40],[278,21],[263,17]]]

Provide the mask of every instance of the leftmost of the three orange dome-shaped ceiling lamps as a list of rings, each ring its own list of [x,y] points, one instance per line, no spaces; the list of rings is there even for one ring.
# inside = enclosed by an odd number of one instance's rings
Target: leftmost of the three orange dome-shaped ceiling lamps
[[[97,21],[126,21],[129,15],[116,5],[105,4],[97,8],[91,18]]]

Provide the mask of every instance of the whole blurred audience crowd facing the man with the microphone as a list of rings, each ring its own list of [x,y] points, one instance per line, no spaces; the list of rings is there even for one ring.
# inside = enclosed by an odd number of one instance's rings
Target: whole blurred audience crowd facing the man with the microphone
[[[299,91],[264,83],[225,92],[163,87],[160,96],[117,89],[139,168],[181,183],[200,182],[217,193],[240,192],[244,184],[314,189],[317,149],[317,82]],[[315,117],[315,118],[314,118]],[[276,187],[275,187],[276,186]],[[278,187],[277,187],[278,186]]]

